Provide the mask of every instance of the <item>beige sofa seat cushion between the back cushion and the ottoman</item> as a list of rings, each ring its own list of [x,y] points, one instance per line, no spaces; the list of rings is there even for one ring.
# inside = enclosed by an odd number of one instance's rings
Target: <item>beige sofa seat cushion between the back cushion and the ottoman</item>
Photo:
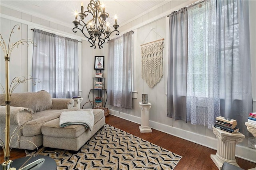
[[[41,127],[44,123],[51,121],[60,117],[60,114],[64,111],[76,111],[78,107],[72,107],[70,109],[62,109],[62,110],[45,110],[38,113],[33,114],[33,119],[28,121],[23,126],[23,135],[24,136],[34,136],[41,133]]]

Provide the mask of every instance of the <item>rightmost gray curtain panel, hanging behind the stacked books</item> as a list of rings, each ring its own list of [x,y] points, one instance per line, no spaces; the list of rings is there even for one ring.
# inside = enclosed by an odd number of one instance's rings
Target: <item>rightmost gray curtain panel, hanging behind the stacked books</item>
[[[236,119],[239,131],[251,136],[245,125],[253,111],[248,1],[216,3],[220,113]]]

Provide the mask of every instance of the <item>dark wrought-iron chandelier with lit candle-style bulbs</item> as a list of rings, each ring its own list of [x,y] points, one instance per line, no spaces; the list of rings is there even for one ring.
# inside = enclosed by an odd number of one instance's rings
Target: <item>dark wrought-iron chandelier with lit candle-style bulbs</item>
[[[88,16],[90,14],[90,16]],[[78,20],[78,16],[80,19]],[[88,16],[88,17],[87,17]],[[108,13],[105,12],[105,6],[100,4],[99,0],[90,0],[90,4],[87,6],[87,11],[84,11],[83,2],[81,2],[81,12],[76,12],[76,18],[73,21],[75,27],[73,28],[73,32],[77,32],[76,30],[80,30],[82,34],[86,38],[88,38],[88,42],[96,48],[95,42],[98,41],[99,48],[103,47],[105,40],[109,41],[109,36],[116,32],[116,35],[119,35],[119,31],[117,30],[119,25],[117,24],[117,19],[114,21],[114,30],[110,30],[110,24],[107,22]],[[84,21],[84,18],[89,18],[88,21]],[[89,36],[87,36],[89,35]]]

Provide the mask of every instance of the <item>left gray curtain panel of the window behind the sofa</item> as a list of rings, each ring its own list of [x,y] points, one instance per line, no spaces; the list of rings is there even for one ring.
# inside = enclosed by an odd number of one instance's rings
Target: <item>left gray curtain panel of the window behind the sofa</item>
[[[32,91],[46,90],[56,98],[55,34],[34,29],[32,76],[41,80]]]

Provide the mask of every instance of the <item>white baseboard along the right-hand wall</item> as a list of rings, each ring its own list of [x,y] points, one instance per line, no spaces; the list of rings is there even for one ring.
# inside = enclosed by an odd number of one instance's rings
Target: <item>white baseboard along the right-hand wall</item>
[[[131,121],[134,123],[138,123],[138,124],[140,124],[140,122],[141,122],[140,117],[128,115],[126,113],[122,113],[119,111],[111,110],[110,115],[114,115],[116,117],[120,117],[122,119]],[[171,134],[173,136],[182,138],[184,140],[188,140],[190,142],[194,142],[196,144],[200,144],[202,146],[206,146],[208,148],[217,150],[217,142],[218,142],[217,138],[212,138],[212,137],[204,136],[204,135],[197,134],[194,132],[189,132],[186,130],[182,130],[180,128],[164,125],[164,124],[157,123],[154,121],[150,121],[150,127],[155,130],[159,130],[161,132],[165,132],[167,134]],[[200,139],[200,140],[198,140],[198,139]],[[236,145],[236,157],[256,163],[255,149],[251,149],[251,148],[241,146],[241,145]]]

